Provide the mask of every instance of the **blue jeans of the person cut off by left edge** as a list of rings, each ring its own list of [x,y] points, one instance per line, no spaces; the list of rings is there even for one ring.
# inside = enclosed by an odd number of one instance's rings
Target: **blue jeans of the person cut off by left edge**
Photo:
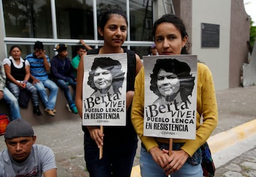
[[[7,88],[4,88],[4,101],[6,101],[10,107],[11,120],[22,118],[20,115],[20,106],[18,101]]]

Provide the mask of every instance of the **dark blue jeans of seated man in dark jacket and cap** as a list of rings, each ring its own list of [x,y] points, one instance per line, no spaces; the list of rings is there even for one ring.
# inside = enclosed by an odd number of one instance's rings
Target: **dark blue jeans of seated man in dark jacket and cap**
[[[67,82],[69,84],[67,84]],[[67,81],[57,80],[57,84],[64,91],[64,96],[66,97],[66,100],[69,103],[69,105],[75,104],[75,88],[77,86],[77,82],[72,80],[72,78],[67,78]],[[69,91],[69,85],[72,86],[72,88],[74,89],[73,96],[71,96],[71,93]]]

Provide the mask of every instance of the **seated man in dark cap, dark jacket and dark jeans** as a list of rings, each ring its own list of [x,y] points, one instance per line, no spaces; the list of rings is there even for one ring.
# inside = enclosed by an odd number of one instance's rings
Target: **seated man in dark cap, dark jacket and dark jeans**
[[[57,51],[58,54],[51,59],[51,74],[59,88],[64,91],[64,96],[68,102],[67,108],[74,113],[78,113],[77,107],[75,106],[77,78],[75,77],[70,59],[67,57],[67,46],[66,44],[58,44],[53,50]],[[74,89],[73,96],[71,96],[69,85]]]

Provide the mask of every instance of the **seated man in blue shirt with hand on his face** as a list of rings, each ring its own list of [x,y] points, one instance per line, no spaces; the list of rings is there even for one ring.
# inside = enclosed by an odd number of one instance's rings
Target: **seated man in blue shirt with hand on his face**
[[[26,59],[30,63],[30,78],[33,80],[33,84],[45,106],[45,112],[55,116],[56,110],[54,107],[58,95],[58,86],[48,78],[49,57],[45,54],[43,43],[36,41],[33,54],[28,55]],[[49,96],[45,88],[49,89]]]

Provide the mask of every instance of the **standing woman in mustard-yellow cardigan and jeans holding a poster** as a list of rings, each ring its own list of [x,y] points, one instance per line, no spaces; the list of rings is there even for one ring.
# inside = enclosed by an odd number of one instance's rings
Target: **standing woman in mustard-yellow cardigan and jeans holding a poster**
[[[153,37],[160,55],[187,54],[187,32],[181,19],[167,14],[153,26]],[[200,146],[207,141],[218,123],[218,110],[211,72],[206,65],[197,64],[197,125],[196,139],[173,139],[168,155],[169,139],[143,136],[144,69],[135,80],[132,101],[132,123],[142,140],[140,171],[142,176],[202,177]],[[200,118],[203,123],[200,124]]]

